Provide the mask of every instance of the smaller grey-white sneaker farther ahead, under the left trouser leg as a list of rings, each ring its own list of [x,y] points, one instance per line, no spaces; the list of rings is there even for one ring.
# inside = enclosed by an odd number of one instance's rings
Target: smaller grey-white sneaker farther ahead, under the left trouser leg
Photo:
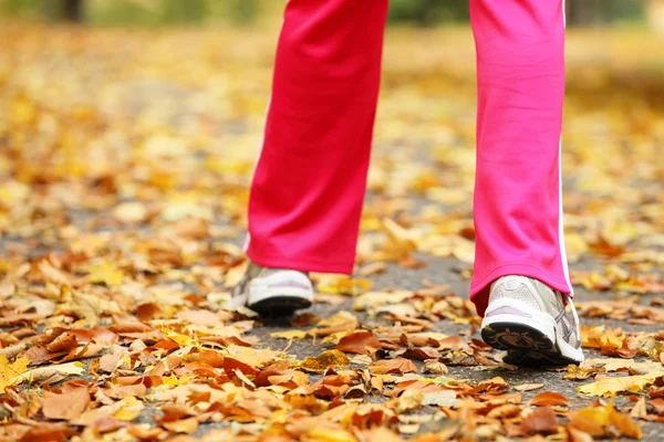
[[[246,306],[262,316],[288,316],[312,303],[313,286],[307,274],[249,261],[228,307]]]

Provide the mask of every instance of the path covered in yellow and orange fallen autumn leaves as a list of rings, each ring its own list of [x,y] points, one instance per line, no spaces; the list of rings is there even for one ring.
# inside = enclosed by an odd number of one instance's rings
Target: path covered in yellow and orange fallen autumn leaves
[[[219,307],[242,272],[274,35],[9,29],[2,436],[660,440],[664,43],[570,35],[567,241],[603,367],[568,372],[513,370],[477,340],[465,29],[388,34],[353,280],[314,275],[294,326]]]

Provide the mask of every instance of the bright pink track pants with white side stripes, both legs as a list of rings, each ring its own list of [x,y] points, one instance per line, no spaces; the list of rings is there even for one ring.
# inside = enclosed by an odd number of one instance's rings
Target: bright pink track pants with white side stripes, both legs
[[[477,234],[470,297],[518,274],[571,293],[560,190],[562,0],[470,0],[477,45]],[[290,0],[249,203],[256,263],[351,273],[387,0]],[[454,44],[449,42],[448,44]]]

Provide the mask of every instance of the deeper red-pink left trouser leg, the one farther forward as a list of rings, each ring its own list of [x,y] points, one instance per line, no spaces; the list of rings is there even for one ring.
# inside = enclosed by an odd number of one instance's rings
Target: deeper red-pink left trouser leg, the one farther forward
[[[351,273],[387,0],[290,0],[246,251],[263,266]]]

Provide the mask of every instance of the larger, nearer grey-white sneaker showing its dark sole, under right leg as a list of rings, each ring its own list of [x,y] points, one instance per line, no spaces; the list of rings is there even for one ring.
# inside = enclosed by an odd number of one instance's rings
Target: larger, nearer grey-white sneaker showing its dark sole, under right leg
[[[491,284],[481,338],[507,350],[505,361],[511,365],[563,366],[584,359],[572,299],[527,276],[504,276]]]

